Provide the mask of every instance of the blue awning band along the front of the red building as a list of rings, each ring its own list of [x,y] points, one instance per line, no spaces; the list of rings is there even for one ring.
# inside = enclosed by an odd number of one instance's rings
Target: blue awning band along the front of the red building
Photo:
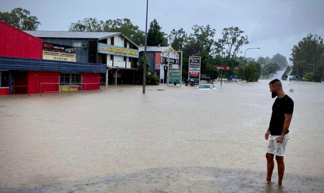
[[[106,64],[0,57],[0,70],[106,73]]]

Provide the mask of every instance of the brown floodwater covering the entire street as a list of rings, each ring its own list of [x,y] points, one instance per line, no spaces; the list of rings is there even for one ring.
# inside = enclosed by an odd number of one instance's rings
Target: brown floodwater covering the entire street
[[[324,84],[282,82],[295,109],[278,189],[268,83],[0,97],[0,192],[324,192]]]

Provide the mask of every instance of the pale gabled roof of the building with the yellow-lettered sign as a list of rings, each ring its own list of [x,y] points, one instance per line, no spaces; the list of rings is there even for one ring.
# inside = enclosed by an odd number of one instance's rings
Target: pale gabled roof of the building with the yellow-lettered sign
[[[103,40],[108,37],[121,35],[130,41],[133,45],[137,46],[129,37],[121,32],[89,32],[89,31],[25,31],[36,37],[56,37],[56,38],[83,38],[83,39],[98,39]]]

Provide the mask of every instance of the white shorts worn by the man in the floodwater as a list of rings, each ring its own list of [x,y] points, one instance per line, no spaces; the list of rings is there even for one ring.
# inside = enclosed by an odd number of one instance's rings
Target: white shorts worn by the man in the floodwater
[[[277,142],[278,137],[280,137],[280,135],[269,135],[267,152],[273,154],[274,156],[284,156],[286,145],[290,136],[289,133],[286,134],[282,143]]]

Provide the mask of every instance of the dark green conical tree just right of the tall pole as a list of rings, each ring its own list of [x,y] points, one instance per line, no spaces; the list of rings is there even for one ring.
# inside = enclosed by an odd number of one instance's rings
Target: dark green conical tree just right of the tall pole
[[[166,33],[161,31],[156,19],[150,23],[150,28],[147,32],[147,46],[168,46],[168,38]]]

